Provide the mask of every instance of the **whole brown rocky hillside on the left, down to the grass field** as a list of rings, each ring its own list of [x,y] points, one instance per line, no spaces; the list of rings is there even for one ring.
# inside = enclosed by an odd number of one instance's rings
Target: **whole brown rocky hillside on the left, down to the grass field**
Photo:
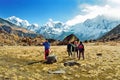
[[[43,36],[0,18],[0,45],[39,45],[44,40]]]

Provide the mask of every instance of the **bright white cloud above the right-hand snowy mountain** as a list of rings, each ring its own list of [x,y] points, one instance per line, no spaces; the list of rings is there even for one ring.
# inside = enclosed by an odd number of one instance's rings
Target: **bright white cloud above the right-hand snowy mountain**
[[[80,5],[81,12],[84,15],[77,15],[73,19],[66,22],[67,25],[75,25],[84,22],[86,19],[94,18],[98,15],[106,15],[109,17],[115,17],[120,19],[120,1],[119,0],[107,0],[103,6],[99,5]]]

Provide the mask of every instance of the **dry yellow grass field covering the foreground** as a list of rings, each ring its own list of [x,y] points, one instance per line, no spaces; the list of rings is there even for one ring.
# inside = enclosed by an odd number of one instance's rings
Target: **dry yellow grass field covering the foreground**
[[[120,43],[84,45],[85,60],[68,57],[66,46],[51,46],[51,54],[57,56],[53,64],[43,63],[43,46],[1,46],[0,80],[120,80]],[[63,65],[71,60],[80,65]],[[56,70],[65,73],[48,73]]]

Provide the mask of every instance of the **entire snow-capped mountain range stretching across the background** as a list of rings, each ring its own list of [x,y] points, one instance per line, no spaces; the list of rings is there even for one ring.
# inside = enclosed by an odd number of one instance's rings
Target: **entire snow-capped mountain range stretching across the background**
[[[52,19],[42,26],[30,24],[27,20],[22,20],[15,16],[10,17],[7,20],[27,28],[27,30],[41,34],[45,38],[63,40],[66,36],[75,34],[82,41],[97,39],[120,24],[120,20],[102,15],[93,19],[87,19],[83,23],[74,26],[67,26],[65,23],[53,21]]]

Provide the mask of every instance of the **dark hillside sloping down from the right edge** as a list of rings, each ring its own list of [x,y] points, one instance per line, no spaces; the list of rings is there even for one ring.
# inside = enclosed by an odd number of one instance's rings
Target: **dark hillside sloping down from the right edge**
[[[120,24],[100,38],[105,41],[120,40]]]

